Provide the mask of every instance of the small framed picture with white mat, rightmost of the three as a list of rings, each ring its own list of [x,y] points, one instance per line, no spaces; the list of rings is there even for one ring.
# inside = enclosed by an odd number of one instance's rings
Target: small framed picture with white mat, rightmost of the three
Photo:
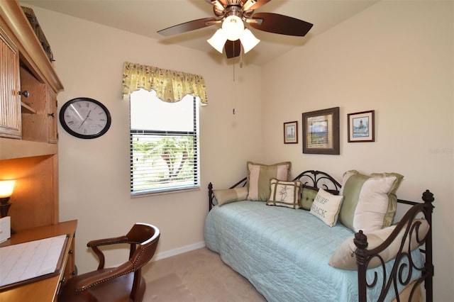
[[[375,111],[349,113],[348,142],[375,142]]]

